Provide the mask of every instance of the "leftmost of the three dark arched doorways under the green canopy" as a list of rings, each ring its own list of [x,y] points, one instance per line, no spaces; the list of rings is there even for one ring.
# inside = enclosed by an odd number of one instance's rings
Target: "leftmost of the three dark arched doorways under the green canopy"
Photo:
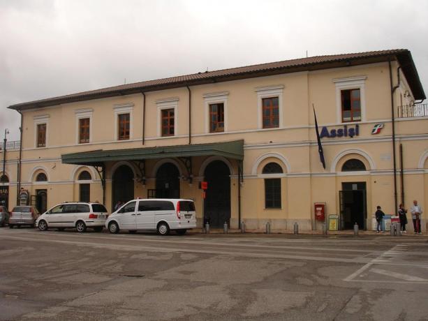
[[[118,201],[128,202],[134,198],[134,173],[127,165],[121,165],[113,174],[112,208]]]

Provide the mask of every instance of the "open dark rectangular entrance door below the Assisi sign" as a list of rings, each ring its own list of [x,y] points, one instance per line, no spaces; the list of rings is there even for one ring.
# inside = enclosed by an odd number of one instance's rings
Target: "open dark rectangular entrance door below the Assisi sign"
[[[366,183],[342,183],[342,189],[339,191],[341,230],[352,230],[355,223],[366,230]]]

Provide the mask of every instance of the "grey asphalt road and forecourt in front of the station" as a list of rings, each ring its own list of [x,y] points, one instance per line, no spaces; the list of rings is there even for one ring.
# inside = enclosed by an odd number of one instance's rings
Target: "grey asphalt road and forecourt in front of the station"
[[[0,228],[0,320],[428,320],[426,236]]]

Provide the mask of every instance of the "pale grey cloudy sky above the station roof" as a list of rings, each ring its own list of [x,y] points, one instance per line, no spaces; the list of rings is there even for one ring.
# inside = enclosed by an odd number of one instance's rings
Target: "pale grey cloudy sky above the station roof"
[[[9,105],[320,54],[407,48],[428,91],[427,0],[0,0],[0,138]]]

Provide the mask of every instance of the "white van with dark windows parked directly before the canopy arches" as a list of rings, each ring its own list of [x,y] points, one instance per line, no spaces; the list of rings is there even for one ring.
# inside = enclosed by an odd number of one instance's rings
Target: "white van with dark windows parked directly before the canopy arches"
[[[196,212],[193,200],[182,199],[138,199],[131,200],[113,212],[105,221],[110,233],[128,230],[156,230],[166,235],[170,230],[184,234],[196,227]]]

